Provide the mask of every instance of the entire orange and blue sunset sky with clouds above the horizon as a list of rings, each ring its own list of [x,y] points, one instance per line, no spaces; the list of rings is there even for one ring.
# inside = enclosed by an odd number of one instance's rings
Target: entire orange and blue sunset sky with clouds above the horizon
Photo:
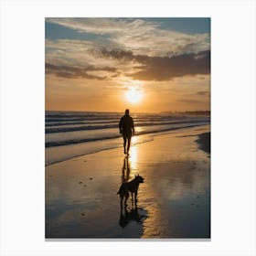
[[[46,18],[46,110],[208,111],[209,18]]]

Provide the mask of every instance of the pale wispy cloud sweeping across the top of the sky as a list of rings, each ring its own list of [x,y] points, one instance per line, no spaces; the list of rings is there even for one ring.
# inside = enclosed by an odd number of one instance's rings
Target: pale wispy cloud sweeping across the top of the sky
[[[163,18],[164,19],[164,18]],[[149,56],[176,55],[209,49],[209,34],[186,34],[160,27],[159,22],[140,18],[47,18],[47,22],[80,33],[104,36],[112,48]],[[106,40],[108,38],[108,40]]]

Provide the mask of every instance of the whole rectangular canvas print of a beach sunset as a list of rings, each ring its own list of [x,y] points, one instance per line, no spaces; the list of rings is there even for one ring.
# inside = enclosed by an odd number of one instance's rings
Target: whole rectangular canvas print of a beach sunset
[[[45,19],[45,237],[210,238],[210,18]]]

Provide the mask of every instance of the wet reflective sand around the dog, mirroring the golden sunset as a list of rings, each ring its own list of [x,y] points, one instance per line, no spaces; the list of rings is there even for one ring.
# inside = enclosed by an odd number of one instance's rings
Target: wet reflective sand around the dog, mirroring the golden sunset
[[[116,148],[48,165],[46,238],[210,238],[208,135],[198,136],[208,132],[207,125],[155,136],[128,158]],[[137,174],[137,209],[130,197],[125,212],[117,191]]]

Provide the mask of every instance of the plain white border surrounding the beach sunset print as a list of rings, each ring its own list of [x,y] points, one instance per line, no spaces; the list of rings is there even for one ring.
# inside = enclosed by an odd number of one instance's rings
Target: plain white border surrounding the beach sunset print
[[[44,238],[46,16],[211,17],[211,240]],[[255,2],[1,2],[1,255],[255,255]],[[29,113],[29,118],[27,118]]]

